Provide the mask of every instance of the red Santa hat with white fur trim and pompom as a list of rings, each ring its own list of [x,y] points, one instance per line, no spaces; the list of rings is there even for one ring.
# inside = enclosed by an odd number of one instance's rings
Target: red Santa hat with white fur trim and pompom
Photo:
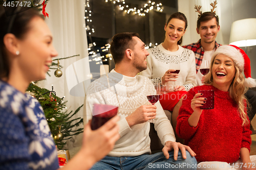
[[[218,54],[223,54],[230,57],[234,63],[238,66],[241,72],[244,71],[245,82],[244,85],[246,87],[255,87],[256,80],[251,78],[251,66],[250,59],[247,54],[236,45],[222,45],[215,51],[214,57]]]

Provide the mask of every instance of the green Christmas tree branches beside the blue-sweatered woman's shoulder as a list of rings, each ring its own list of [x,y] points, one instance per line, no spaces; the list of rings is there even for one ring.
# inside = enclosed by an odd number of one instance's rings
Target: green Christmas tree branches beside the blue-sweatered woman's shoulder
[[[66,108],[66,102],[63,102],[63,98],[59,98],[56,93],[52,90],[38,87],[34,83],[30,83],[27,91],[29,91],[34,98],[36,98],[42,106],[45,112],[48,125],[54,136],[54,141],[58,149],[62,149],[66,144],[66,140],[70,139],[73,135],[78,135],[83,132],[83,128],[72,130],[74,127],[78,127],[83,123],[83,118],[74,118],[75,115],[83,105],[78,107],[74,113],[70,111],[63,112]]]

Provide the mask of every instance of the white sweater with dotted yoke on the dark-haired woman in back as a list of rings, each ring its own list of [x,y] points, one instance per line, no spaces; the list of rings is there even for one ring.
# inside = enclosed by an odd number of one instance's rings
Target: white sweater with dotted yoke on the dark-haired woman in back
[[[197,86],[196,80],[196,62],[193,51],[183,48],[178,45],[179,49],[176,52],[166,50],[162,43],[155,48],[148,49],[147,69],[140,72],[140,75],[150,78],[153,84],[161,83],[162,76],[170,69],[170,62],[180,61],[180,72],[176,84],[185,87],[186,91]]]

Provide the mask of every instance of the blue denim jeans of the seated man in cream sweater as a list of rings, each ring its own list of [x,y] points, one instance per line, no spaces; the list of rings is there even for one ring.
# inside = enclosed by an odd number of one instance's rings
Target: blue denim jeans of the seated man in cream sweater
[[[196,158],[191,157],[186,151],[186,159],[182,158],[179,151],[177,161],[174,160],[174,152],[169,152],[169,159],[166,159],[163,152],[153,155],[140,155],[135,157],[110,157],[105,156],[97,162],[92,170],[121,169],[121,170],[137,170],[137,169],[197,169]]]

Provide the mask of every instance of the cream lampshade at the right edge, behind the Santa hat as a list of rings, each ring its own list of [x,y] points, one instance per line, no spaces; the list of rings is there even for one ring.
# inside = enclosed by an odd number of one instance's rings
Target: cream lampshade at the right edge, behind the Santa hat
[[[236,46],[256,45],[256,18],[234,21],[231,26],[229,44]]]

